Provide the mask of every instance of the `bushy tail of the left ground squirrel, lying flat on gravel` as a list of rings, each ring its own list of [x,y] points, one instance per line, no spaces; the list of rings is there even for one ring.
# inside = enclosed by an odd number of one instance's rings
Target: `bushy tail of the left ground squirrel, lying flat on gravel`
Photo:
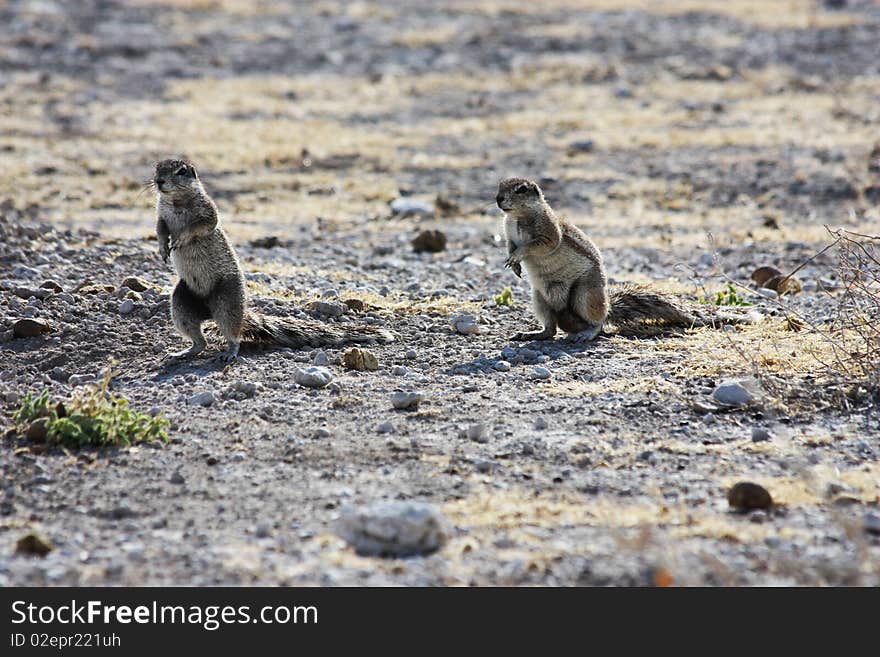
[[[331,347],[348,343],[393,342],[394,334],[375,326],[324,324],[291,317],[269,317],[249,311],[242,341],[274,347]]]

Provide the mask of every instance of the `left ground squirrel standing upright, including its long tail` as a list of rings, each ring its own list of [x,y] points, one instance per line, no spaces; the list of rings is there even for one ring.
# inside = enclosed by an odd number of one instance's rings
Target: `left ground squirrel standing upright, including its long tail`
[[[391,342],[388,331],[370,326],[328,326],[292,318],[274,318],[247,309],[244,275],[217,206],[205,192],[195,167],[185,160],[156,164],[156,235],[164,261],[174,263],[180,280],[171,294],[171,318],[192,340],[189,349],[171,354],[195,356],[207,345],[202,323],[213,319],[228,349],[224,361],[238,356],[242,341],[267,346],[305,347],[346,342]]]

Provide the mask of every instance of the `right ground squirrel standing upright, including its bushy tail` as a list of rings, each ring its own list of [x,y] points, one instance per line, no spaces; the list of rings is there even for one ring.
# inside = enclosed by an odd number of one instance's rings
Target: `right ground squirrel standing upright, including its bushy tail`
[[[540,331],[517,333],[511,340],[549,340],[557,328],[574,341],[589,341],[607,325],[626,328],[653,322],[687,328],[754,321],[748,314],[704,316],[637,285],[624,285],[609,294],[599,249],[577,226],[553,212],[537,183],[525,178],[502,180],[495,202],[506,213],[504,266],[520,277],[525,267],[532,285],[532,309],[543,326]]]

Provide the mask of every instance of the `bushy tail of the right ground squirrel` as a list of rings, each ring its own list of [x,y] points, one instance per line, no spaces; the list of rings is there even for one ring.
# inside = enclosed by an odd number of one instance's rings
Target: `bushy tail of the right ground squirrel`
[[[627,284],[611,290],[611,310],[606,322],[619,330],[638,327],[720,327],[725,324],[754,324],[760,315],[739,309],[714,306],[685,308],[673,298],[641,285]]]

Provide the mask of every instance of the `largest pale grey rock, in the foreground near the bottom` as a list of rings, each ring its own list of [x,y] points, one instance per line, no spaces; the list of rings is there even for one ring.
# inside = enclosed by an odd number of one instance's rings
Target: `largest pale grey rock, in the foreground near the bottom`
[[[364,556],[407,557],[436,552],[448,540],[449,521],[421,502],[381,502],[344,507],[336,533]]]

